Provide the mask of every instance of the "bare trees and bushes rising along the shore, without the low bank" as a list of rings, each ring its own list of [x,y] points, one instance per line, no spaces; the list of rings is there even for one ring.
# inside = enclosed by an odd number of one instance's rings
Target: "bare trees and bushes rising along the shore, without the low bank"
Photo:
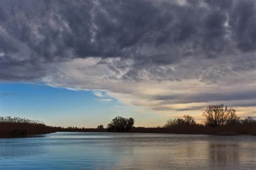
[[[204,126],[218,127],[234,124],[256,124],[252,117],[241,119],[235,114],[235,109],[228,108],[224,104],[208,105],[203,113],[205,117]],[[133,128],[133,118],[116,117],[107,125],[107,130],[111,132],[128,132]],[[163,128],[174,128],[176,126],[202,125],[196,123],[190,115],[184,115],[183,118],[169,119]],[[104,129],[103,125],[99,125],[97,129]],[[255,130],[256,131],[256,130]]]

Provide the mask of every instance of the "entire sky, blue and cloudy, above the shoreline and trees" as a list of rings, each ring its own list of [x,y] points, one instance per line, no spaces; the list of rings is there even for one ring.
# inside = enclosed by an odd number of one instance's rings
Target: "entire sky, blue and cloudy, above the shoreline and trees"
[[[256,1],[0,1],[0,116],[164,125],[256,117]]]

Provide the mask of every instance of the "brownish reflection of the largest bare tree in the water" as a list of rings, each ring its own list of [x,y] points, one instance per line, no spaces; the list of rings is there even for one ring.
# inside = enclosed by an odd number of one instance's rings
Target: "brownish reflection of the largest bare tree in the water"
[[[227,144],[227,143],[210,143],[208,147],[209,155],[208,160],[212,167],[228,167],[235,166],[237,169],[240,162],[240,147],[238,144]]]

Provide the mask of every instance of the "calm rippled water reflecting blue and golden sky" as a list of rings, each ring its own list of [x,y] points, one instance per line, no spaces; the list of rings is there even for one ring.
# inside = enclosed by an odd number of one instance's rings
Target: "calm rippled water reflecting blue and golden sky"
[[[57,132],[0,139],[0,169],[256,169],[255,136]]]

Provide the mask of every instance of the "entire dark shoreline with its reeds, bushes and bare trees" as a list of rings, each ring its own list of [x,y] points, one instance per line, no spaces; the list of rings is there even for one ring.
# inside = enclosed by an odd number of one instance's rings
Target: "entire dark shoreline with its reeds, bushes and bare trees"
[[[233,108],[220,105],[208,105],[203,113],[204,124],[194,121],[190,115],[183,118],[169,119],[162,127],[134,127],[133,118],[116,117],[107,128],[62,128],[48,126],[41,121],[33,121],[19,117],[0,117],[0,138],[26,137],[34,134],[53,132],[131,132],[131,133],[175,133],[175,134],[215,134],[215,135],[256,135],[256,120],[252,117],[241,119]]]

